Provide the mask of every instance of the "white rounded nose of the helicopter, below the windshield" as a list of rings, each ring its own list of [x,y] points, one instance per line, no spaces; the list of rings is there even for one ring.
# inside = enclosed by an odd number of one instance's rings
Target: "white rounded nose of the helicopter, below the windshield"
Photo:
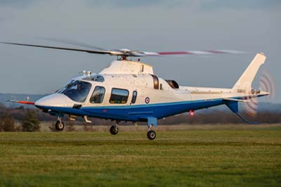
[[[73,105],[73,102],[67,96],[60,93],[53,93],[49,96],[40,98],[34,104],[37,108],[48,107],[67,107]]]

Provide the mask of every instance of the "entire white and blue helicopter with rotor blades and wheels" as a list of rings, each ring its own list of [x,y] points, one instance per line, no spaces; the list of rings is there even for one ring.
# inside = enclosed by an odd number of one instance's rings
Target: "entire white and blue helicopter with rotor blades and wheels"
[[[152,130],[152,127],[157,127],[157,120],[183,112],[193,113],[195,110],[216,105],[227,105],[244,122],[249,122],[238,112],[238,102],[245,103],[249,102],[249,98],[270,94],[251,87],[259,67],[266,60],[263,53],[256,54],[233,88],[221,89],[179,86],[174,80],[157,77],[151,65],[141,63],[140,60],[127,60],[127,58],[238,53],[238,51],[144,52],[130,51],[129,49],[106,50],[92,47],[93,50],[10,42],[1,43],[117,56],[117,60],[114,60],[110,67],[105,68],[98,74],[85,71],[83,75],[71,79],[62,89],[44,96],[38,101],[10,101],[35,105],[43,112],[57,116],[58,121],[55,128],[58,131],[65,127],[62,121],[64,115],[69,115],[70,120],[75,120],[75,117],[84,117],[86,122],[91,122],[88,117],[98,117],[116,121],[116,124],[110,127],[111,134],[118,133],[120,121],[147,122],[147,135],[150,140],[153,140],[156,133]]]

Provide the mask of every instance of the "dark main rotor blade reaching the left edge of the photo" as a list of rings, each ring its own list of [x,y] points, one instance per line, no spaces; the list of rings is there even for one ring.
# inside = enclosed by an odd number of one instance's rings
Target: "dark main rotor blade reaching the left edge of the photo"
[[[40,47],[40,48],[48,48],[48,49],[80,51],[80,52],[96,53],[96,54],[109,54],[109,55],[112,54],[110,51],[93,51],[93,50],[87,50],[87,49],[74,49],[74,48],[65,48],[65,47],[56,47],[56,46],[41,46],[41,45],[33,45],[33,44],[19,44],[19,43],[10,43],[10,42],[2,42],[2,41],[0,41],[0,43],[1,44],[17,45],[17,46],[32,46],[32,47]]]

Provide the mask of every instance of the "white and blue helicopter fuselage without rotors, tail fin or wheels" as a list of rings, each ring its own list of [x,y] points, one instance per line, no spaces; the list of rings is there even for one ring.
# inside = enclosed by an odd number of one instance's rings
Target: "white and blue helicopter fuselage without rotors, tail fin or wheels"
[[[114,72],[114,73],[113,73]],[[124,121],[154,121],[239,101],[246,91],[179,86],[153,74],[140,62],[117,60],[99,74],[76,77],[63,89],[39,99],[37,108],[54,115],[77,115]],[[266,95],[254,92],[252,97]],[[229,105],[228,105],[229,107]],[[230,108],[232,109],[232,108]]]

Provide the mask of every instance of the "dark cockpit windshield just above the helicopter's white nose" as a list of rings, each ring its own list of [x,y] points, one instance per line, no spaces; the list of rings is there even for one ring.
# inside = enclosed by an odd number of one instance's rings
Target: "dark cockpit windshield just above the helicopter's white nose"
[[[83,81],[75,81],[68,84],[67,88],[62,92],[72,101],[83,103],[91,90],[91,83]]]

